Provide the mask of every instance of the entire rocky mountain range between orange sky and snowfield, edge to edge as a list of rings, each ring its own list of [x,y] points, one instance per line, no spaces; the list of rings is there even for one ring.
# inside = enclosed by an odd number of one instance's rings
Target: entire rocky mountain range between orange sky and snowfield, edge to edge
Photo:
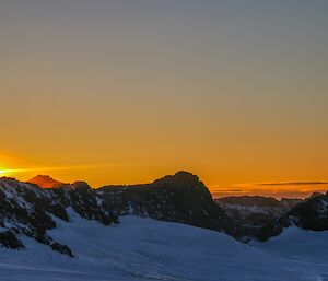
[[[266,241],[283,229],[328,230],[328,194],[306,200],[265,197],[212,199],[196,175],[178,172],[152,184],[91,188],[84,182],[60,183],[36,176],[27,183],[0,178],[0,245],[24,247],[22,235],[73,256],[69,245],[51,237],[56,220],[69,221],[70,210],[103,225],[132,214],[226,233],[242,242]],[[57,218],[57,219],[56,219]]]

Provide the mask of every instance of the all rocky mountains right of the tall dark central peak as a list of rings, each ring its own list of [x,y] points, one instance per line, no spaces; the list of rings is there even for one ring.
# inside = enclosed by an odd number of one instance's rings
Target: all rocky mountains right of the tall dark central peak
[[[293,225],[304,230],[328,230],[328,192],[314,192],[304,200],[241,196],[214,201],[235,226],[233,236],[243,242],[267,241]]]

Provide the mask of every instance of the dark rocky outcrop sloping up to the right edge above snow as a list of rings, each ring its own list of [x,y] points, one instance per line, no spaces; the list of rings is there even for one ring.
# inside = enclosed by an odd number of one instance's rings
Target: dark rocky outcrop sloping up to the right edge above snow
[[[291,225],[311,231],[328,230],[328,192],[326,195],[316,194],[296,204],[286,214],[263,226],[257,237],[259,241],[267,241]]]

